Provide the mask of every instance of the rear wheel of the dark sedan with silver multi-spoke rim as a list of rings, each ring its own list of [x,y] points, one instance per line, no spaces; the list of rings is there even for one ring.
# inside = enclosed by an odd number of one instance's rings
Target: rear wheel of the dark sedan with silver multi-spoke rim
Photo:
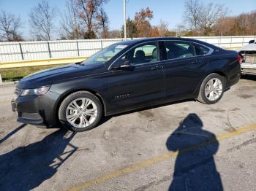
[[[211,82],[213,82],[214,84],[215,83],[219,84],[219,82],[221,82],[222,91],[220,91],[220,85],[218,85],[219,88],[214,89],[214,87],[211,86]],[[213,89],[214,91],[212,91]],[[203,104],[215,104],[222,98],[224,91],[225,91],[225,77],[222,77],[221,75],[216,73],[209,74],[203,80],[200,86],[200,91],[197,97],[197,101],[200,101]],[[211,94],[209,94],[209,92],[211,92]]]

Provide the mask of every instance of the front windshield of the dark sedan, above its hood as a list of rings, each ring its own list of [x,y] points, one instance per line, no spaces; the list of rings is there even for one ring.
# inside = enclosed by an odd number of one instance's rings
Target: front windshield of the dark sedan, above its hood
[[[110,61],[118,52],[127,47],[126,44],[112,44],[109,47],[105,47],[99,52],[92,55],[90,58],[87,58],[86,61],[83,61],[82,65],[91,65],[91,64],[104,64]]]

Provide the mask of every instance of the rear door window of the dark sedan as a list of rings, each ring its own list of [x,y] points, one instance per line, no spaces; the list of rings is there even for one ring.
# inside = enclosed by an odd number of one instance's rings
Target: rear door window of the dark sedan
[[[165,42],[167,59],[191,58],[196,55],[195,46],[189,42]]]

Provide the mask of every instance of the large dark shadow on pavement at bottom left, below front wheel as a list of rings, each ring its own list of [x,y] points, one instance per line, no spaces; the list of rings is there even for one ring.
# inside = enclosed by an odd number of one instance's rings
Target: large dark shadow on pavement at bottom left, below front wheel
[[[0,155],[0,190],[33,190],[50,179],[78,148],[75,136],[61,128],[41,141]]]

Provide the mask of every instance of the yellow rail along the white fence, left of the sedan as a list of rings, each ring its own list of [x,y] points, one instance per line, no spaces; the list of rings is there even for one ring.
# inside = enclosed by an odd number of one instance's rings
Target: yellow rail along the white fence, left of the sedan
[[[0,69],[12,69],[20,67],[31,67],[31,66],[48,66],[65,63],[76,63],[86,60],[87,57],[78,58],[59,58],[59,59],[46,59],[37,61],[14,61],[14,62],[0,62]]]

